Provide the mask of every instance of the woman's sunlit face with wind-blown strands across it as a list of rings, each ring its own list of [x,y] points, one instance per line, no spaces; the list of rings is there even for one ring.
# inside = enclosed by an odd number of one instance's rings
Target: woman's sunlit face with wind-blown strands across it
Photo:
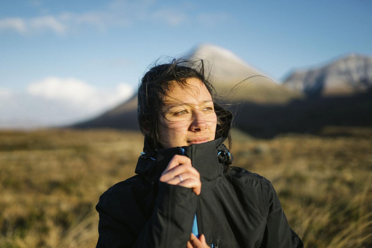
[[[186,87],[174,83],[163,99],[160,139],[164,148],[189,146],[214,140],[217,115],[211,94],[197,78],[186,79]]]

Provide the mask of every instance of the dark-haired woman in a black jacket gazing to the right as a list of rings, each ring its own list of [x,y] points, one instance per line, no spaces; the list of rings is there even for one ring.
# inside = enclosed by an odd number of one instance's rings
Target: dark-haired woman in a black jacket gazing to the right
[[[202,61],[150,69],[138,89],[144,152],[137,175],[100,197],[97,247],[303,247],[272,184],[230,166],[231,121]]]

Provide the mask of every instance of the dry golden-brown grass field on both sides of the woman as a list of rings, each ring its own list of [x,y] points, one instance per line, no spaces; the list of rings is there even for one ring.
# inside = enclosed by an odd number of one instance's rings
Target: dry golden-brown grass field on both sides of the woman
[[[234,165],[269,179],[305,247],[372,247],[372,128],[254,139]],[[0,131],[0,247],[94,247],[100,194],[134,175],[141,134]]]

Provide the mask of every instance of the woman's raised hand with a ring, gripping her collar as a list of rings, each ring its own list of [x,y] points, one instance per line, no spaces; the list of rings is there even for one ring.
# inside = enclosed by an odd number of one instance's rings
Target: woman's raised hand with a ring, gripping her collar
[[[202,188],[199,172],[192,167],[191,159],[182,155],[174,155],[159,179],[167,184],[192,188],[199,195]]]

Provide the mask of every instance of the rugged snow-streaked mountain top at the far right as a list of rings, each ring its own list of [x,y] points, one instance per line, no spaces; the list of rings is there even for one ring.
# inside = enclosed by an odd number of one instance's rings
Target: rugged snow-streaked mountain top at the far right
[[[294,71],[283,85],[310,97],[365,92],[372,86],[372,57],[350,54],[323,67]]]

